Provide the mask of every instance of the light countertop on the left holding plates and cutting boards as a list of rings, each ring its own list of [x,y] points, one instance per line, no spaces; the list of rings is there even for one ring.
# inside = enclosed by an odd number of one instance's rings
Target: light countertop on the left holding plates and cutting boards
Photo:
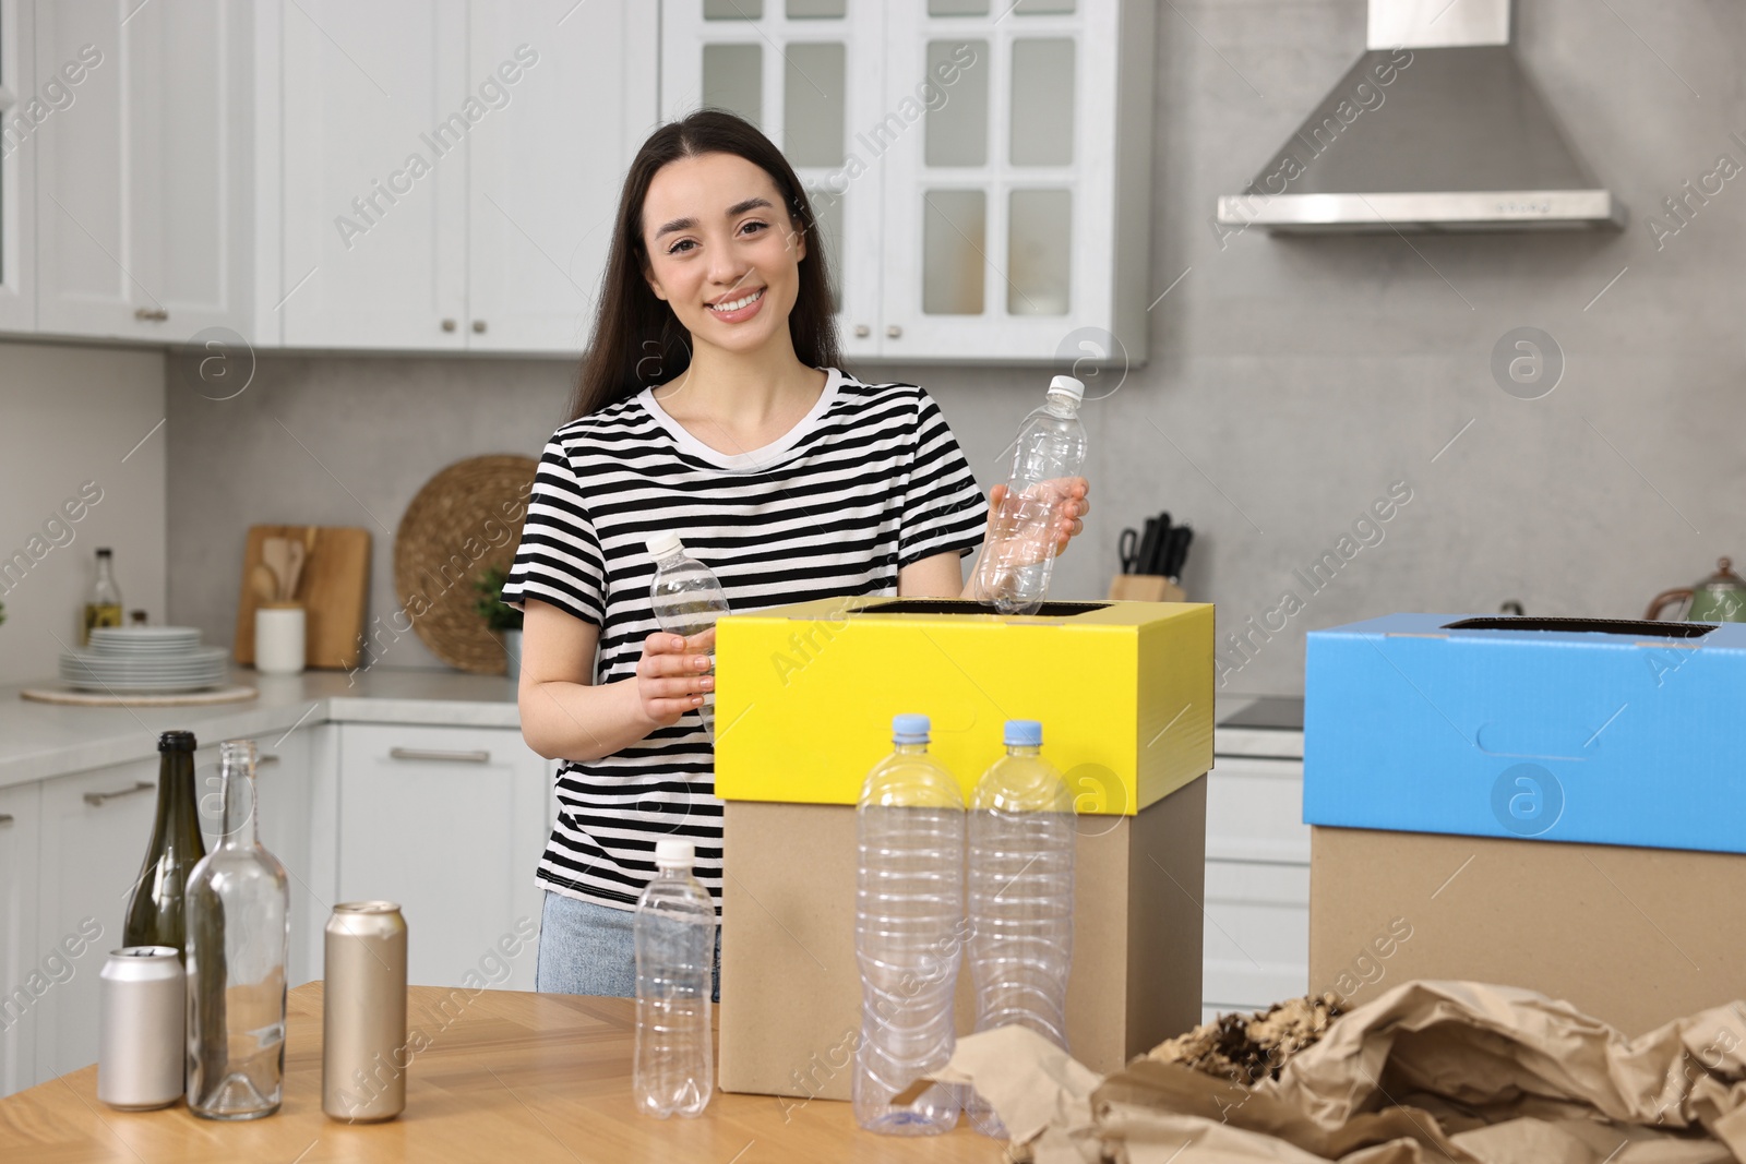
[[[388,667],[262,675],[236,668],[230,682],[260,695],[211,707],[63,707],[19,698],[24,688],[58,686],[52,682],[0,688],[0,787],[154,757],[157,735],[171,728],[217,742],[320,722],[520,726],[515,686],[501,675]]]

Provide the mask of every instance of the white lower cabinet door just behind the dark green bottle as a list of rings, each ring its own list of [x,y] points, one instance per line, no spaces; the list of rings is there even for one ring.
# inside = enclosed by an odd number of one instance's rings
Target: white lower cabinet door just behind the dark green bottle
[[[122,913],[152,841],[157,759],[42,784],[37,956],[70,972],[37,1000],[37,1078],[98,1058],[98,974],[122,942]]]

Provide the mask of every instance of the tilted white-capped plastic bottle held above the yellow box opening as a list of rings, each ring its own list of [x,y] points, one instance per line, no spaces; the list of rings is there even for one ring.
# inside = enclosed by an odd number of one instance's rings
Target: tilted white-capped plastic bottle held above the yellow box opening
[[[1002,614],[1034,614],[1049,595],[1055,522],[1067,501],[1062,482],[1079,476],[1086,461],[1079,421],[1084,394],[1074,377],[1055,377],[1042,407],[1025,417],[1013,442],[1013,473],[976,562],[974,590]]]

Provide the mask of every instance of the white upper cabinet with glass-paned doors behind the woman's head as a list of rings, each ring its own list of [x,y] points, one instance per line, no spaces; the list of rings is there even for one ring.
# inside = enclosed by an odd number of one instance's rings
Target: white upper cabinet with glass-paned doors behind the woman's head
[[[796,166],[845,354],[1102,361],[1114,335],[1145,358],[1154,5],[669,0],[662,19],[662,115],[730,108]]]

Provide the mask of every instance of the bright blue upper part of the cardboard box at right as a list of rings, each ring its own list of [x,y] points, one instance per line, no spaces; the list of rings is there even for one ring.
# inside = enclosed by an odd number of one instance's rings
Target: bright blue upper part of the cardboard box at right
[[[1311,632],[1304,822],[1746,853],[1746,625]]]

